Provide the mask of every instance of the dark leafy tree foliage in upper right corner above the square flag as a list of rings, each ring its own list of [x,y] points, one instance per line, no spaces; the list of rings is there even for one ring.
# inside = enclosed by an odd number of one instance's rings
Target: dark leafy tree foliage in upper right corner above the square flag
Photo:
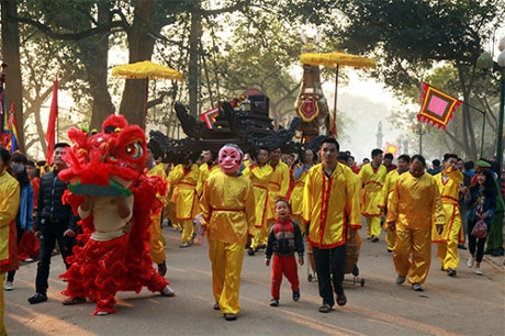
[[[346,19],[330,32],[350,53],[375,56],[373,76],[405,102],[415,101],[420,82],[427,81],[472,103],[480,77],[476,59],[505,18],[503,0],[343,0],[337,7]],[[397,112],[396,122],[412,123],[412,112]],[[460,108],[444,146],[449,139],[454,152],[475,158],[475,116],[482,119],[469,105]]]

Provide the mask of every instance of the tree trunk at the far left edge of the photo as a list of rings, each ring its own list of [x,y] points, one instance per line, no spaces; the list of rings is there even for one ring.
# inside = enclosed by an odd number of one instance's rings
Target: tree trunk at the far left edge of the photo
[[[15,121],[18,122],[18,144],[24,150],[24,116],[23,116],[23,86],[21,81],[20,64],[20,29],[18,16],[18,1],[1,0],[2,15],[2,54],[3,61],[8,65],[5,76],[5,113],[15,102]]]

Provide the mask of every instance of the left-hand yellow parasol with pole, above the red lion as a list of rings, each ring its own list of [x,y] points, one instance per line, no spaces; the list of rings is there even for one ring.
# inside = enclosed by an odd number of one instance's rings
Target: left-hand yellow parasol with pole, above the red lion
[[[144,102],[144,127],[147,114],[147,85],[152,78],[182,80],[182,74],[178,70],[154,64],[150,60],[121,65],[112,68],[112,76],[121,76],[126,79],[146,79],[146,97]]]

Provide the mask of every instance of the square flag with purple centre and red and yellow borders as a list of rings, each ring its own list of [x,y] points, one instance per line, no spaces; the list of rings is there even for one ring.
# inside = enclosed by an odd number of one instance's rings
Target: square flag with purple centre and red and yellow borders
[[[437,125],[438,128],[442,127],[444,131],[452,119],[452,113],[461,105],[461,101],[457,98],[426,82],[420,86],[419,102],[420,112],[417,114],[417,120]]]

